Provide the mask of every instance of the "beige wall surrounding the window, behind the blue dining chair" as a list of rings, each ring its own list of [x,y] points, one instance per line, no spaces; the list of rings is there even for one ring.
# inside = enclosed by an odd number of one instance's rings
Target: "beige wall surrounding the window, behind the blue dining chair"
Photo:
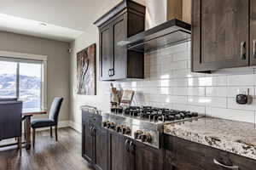
[[[55,97],[64,97],[60,121],[69,115],[69,57],[67,42],[57,42],[38,37],[28,37],[0,31],[0,50],[26,54],[47,55],[47,105]],[[45,116],[44,116],[45,117]]]

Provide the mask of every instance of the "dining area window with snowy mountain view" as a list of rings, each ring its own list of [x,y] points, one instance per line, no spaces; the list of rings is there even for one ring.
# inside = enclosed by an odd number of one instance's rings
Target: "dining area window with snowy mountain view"
[[[44,108],[44,61],[0,57],[0,98],[18,98],[23,110]]]

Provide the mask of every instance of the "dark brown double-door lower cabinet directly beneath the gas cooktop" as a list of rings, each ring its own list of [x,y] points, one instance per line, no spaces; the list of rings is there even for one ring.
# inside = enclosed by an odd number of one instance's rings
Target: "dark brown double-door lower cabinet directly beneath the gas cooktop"
[[[146,144],[110,134],[110,170],[163,170],[164,152]]]

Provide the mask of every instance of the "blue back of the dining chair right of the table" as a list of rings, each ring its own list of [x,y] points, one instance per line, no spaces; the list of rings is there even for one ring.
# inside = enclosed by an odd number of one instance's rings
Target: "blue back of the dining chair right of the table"
[[[63,98],[55,98],[50,106],[49,119],[54,120],[56,123],[58,122],[62,101],[63,101]]]

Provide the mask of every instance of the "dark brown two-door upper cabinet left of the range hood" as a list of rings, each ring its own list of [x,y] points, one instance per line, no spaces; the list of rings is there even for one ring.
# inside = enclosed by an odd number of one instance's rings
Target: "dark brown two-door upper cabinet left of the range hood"
[[[119,47],[118,42],[144,31],[145,7],[125,0],[94,24],[100,34],[100,79],[143,78],[144,54]]]

